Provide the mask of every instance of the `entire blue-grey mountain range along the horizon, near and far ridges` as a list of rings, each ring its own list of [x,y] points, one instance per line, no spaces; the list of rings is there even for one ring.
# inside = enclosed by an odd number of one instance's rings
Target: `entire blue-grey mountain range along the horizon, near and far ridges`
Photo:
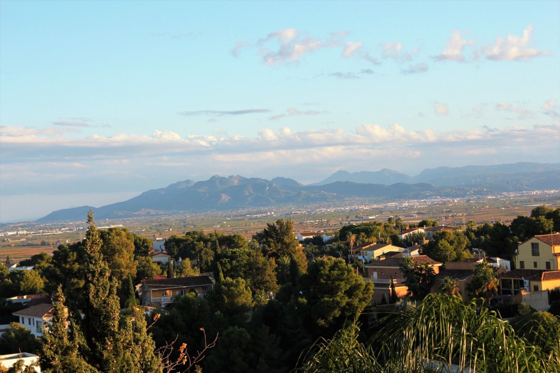
[[[325,180],[310,185],[302,185],[286,177],[265,180],[239,175],[215,175],[205,181],[179,181],[106,206],[57,210],[36,222],[83,220],[90,209],[95,211],[98,219],[111,219],[278,205],[296,206],[348,197],[402,199],[432,193],[451,193],[456,196],[469,188],[495,191],[560,189],[560,164],[438,167],[424,169],[414,177],[386,168],[376,172],[337,171]]]

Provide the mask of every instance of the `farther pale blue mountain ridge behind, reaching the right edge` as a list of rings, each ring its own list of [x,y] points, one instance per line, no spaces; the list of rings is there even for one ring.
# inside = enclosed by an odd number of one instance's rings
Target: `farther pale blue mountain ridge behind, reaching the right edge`
[[[429,183],[446,187],[486,187],[496,191],[555,189],[560,188],[560,163],[519,162],[492,166],[437,167],[424,169],[416,176],[387,168],[375,172],[337,171],[325,180],[311,185],[325,185],[335,181]]]

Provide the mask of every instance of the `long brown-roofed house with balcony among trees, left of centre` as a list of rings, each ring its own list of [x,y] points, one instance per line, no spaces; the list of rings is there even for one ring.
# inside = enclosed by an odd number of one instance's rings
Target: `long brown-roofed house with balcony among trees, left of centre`
[[[141,303],[145,306],[163,308],[173,303],[174,296],[186,295],[188,292],[204,296],[213,287],[214,282],[208,276],[146,280],[141,287]]]

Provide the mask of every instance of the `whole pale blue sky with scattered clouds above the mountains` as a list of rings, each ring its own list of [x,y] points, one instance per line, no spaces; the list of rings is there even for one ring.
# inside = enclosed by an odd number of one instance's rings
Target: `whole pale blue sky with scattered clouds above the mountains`
[[[0,221],[214,174],[560,162],[559,1],[0,1]]]

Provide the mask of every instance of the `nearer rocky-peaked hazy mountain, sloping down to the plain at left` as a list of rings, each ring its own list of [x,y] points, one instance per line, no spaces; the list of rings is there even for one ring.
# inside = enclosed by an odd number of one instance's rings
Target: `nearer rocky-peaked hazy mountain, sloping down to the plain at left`
[[[273,182],[274,181],[274,182]],[[242,176],[213,176],[209,180],[176,182],[165,188],[143,192],[127,201],[98,208],[82,206],[54,211],[36,220],[38,223],[60,220],[83,220],[90,209],[97,219],[119,218],[179,212],[232,210],[244,207],[267,207],[282,204],[326,202],[342,197],[385,197],[430,191],[428,184],[393,185],[335,182],[323,186],[302,186],[288,178],[268,181]],[[282,184],[282,185],[279,185]]]

